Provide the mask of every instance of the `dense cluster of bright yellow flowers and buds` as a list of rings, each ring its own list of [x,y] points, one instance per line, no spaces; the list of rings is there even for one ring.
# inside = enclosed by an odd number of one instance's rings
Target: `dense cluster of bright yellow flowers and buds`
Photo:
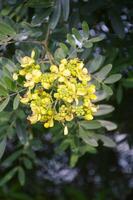
[[[78,58],[63,59],[59,66],[51,65],[49,72],[42,73],[34,56],[33,51],[31,57],[23,57],[21,69],[13,74],[14,80],[23,77],[27,88],[21,102],[30,106],[28,120],[32,124],[43,122],[45,128],[53,127],[55,121],[65,125],[75,117],[92,120],[97,111],[92,100],[97,97],[84,63]],[[64,130],[67,134],[66,127]]]

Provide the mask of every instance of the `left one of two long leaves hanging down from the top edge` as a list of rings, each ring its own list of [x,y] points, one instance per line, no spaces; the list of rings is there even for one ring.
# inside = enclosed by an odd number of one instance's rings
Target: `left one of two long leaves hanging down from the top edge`
[[[50,29],[55,29],[55,27],[57,26],[57,24],[59,22],[60,15],[61,15],[61,3],[60,3],[60,0],[57,0],[55,7],[54,7],[53,14],[52,14],[52,16],[50,18],[50,22],[49,22]]]

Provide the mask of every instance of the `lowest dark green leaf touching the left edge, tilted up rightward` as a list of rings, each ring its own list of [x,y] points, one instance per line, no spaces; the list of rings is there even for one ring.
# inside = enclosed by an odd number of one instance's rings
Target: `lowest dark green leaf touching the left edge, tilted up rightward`
[[[15,167],[13,169],[11,169],[3,178],[1,178],[0,180],[0,186],[5,185],[8,181],[10,181],[13,176],[15,175],[15,173],[17,172],[18,168]]]

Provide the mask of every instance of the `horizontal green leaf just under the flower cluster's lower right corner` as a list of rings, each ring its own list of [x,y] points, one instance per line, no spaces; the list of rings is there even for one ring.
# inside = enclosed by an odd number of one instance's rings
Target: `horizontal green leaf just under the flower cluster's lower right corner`
[[[92,129],[99,129],[101,127],[101,124],[96,121],[79,121],[79,125],[82,126],[84,129],[92,130]]]

